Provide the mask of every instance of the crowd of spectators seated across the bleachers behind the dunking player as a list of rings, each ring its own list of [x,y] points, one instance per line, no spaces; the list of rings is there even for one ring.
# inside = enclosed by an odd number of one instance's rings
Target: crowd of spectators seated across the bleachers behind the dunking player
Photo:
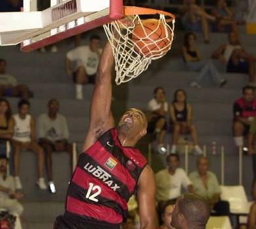
[[[9,10],[18,11],[18,1],[8,2]],[[16,3],[15,3],[16,2]],[[256,100],[254,98],[255,61],[256,57],[245,51],[240,44],[238,26],[244,23],[242,17],[232,13],[224,0],[215,1],[216,5],[205,10],[197,5],[195,0],[186,0],[185,7],[181,9],[182,23],[187,33],[184,36],[184,46],[180,51],[184,59],[184,70],[197,72],[198,75],[191,83],[191,87],[202,87],[202,79],[210,77],[218,87],[224,87],[227,79],[217,70],[212,59],[204,59],[196,44],[196,32],[202,32],[204,44],[212,42],[210,31],[227,33],[228,42],[219,46],[212,53],[213,59],[218,59],[225,72],[247,74],[249,84],[242,89],[242,98],[234,101],[232,131],[234,143],[238,147],[247,146],[248,154],[253,155],[253,185],[256,187]],[[129,5],[135,5],[135,1],[127,1]],[[11,7],[12,5],[12,7]],[[5,5],[5,7],[8,5]],[[16,10],[14,10],[16,7]],[[1,5],[0,5],[1,8]],[[13,8],[13,10],[10,10]],[[94,83],[99,57],[101,55],[101,39],[99,36],[91,36],[89,46],[77,47],[67,52],[65,70],[72,77],[76,87],[76,99],[83,100],[84,84]],[[75,67],[72,68],[72,62]],[[10,213],[20,215],[23,211],[18,199],[22,198],[22,182],[20,180],[20,156],[23,150],[37,154],[37,185],[40,189],[46,189],[47,185],[43,176],[44,164],[46,165],[48,187],[52,193],[56,193],[52,174],[52,152],[65,151],[70,155],[72,172],[72,144],[69,140],[69,129],[65,116],[58,113],[59,101],[48,101],[48,112],[40,115],[37,122],[29,113],[30,103],[28,99],[33,96],[27,85],[18,84],[13,75],[6,73],[7,62],[0,59],[0,96],[15,96],[22,98],[18,103],[18,113],[12,115],[11,108],[6,98],[0,98],[0,206],[7,208]],[[185,85],[184,85],[185,87]],[[225,88],[223,88],[225,90]],[[167,168],[156,174],[157,180],[157,209],[159,213],[159,228],[172,228],[170,221],[174,202],[182,195],[182,188],[189,193],[197,193],[202,196],[212,207],[215,215],[230,216],[229,204],[220,200],[219,182],[216,175],[209,171],[209,159],[200,156],[197,161],[197,170],[187,175],[185,170],[179,168],[179,155],[177,145],[180,135],[191,134],[194,152],[202,155],[197,128],[193,123],[192,105],[187,102],[185,90],[177,89],[174,92],[172,103],[168,103],[165,97],[165,88],[156,87],[153,90],[153,98],[147,105],[148,132],[156,136],[157,152],[167,152],[165,148],[166,132],[170,130],[172,139],[170,154],[167,155]],[[167,119],[169,116],[170,120]],[[244,143],[246,139],[246,143]],[[12,163],[5,157],[5,143],[12,144],[14,179],[7,176],[7,163]],[[45,159],[44,159],[45,158]],[[10,180],[10,181],[9,181]],[[18,190],[18,192],[16,191]],[[5,196],[4,196],[5,195]],[[4,201],[5,200],[5,201]],[[8,200],[8,201],[7,201]],[[15,209],[9,205],[15,204]],[[251,208],[255,214],[255,205]],[[249,218],[254,223],[254,218]],[[123,228],[134,228],[135,217],[129,215]],[[254,223],[255,224],[255,223]]]

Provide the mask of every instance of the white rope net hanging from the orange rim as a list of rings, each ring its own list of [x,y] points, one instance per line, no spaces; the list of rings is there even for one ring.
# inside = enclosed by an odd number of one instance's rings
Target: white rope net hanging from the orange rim
[[[150,38],[150,34],[148,36],[146,35],[147,40],[146,43],[144,43],[144,46],[156,46],[156,50],[150,50],[146,55],[143,53],[143,51],[139,50],[139,47],[135,44],[132,37],[136,36],[135,33],[133,33],[135,27],[137,25],[140,25],[143,27],[143,20],[140,19],[139,14],[134,14],[130,17],[130,22],[127,23],[127,21],[123,20],[116,20],[112,21],[111,23],[103,25],[104,31],[106,33],[106,36],[108,37],[108,40],[112,46],[112,51],[115,59],[115,70],[116,70],[116,84],[120,85],[121,83],[125,83],[127,81],[130,81],[131,79],[137,77],[142,72],[148,69],[148,66],[151,64],[152,60],[159,59],[166,55],[167,51],[170,50],[172,46],[172,40],[174,36],[174,16],[172,14],[168,14],[166,12],[163,12],[161,10],[152,10],[148,8],[140,8],[140,7],[124,7],[129,9],[145,9],[150,10],[150,13],[146,14],[159,14],[158,25],[155,28],[155,30],[152,31],[152,33],[155,33],[159,27],[161,27],[162,30],[164,30],[165,34],[161,34],[161,37],[157,38],[157,40],[152,40]],[[140,14],[145,14],[141,13]],[[168,16],[172,16],[171,20],[167,20],[165,18],[166,14]],[[127,16],[127,14],[125,13]],[[129,14],[128,14],[129,15]],[[131,15],[131,14],[130,14]],[[171,25],[168,25],[167,22],[171,21]],[[167,40],[167,45],[164,47],[159,47],[159,44],[161,44],[161,40]],[[140,42],[143,42],[143,40],[140,40]]]

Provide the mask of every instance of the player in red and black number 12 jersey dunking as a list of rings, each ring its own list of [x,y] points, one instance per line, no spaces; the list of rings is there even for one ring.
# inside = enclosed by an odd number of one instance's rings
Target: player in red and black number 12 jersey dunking
[[[57,217],[54,229],[118,229],[133,193],[138,198],[140,228],[156,228],[155,176],[134,148],[146,134],[146,117],[138,109],[129,109],[114,128],[110,111],[113,65],[107,43],[95,79],[84,153],[69,185],[65,213]]]

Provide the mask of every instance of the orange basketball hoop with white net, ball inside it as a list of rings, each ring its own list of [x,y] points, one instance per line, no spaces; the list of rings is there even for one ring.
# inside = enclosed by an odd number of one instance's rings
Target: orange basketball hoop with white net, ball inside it
[[[123,7],[123,12],[128,20],[103,25],[116,62],[117,85],[137,77],[147,70],[152,60],[163,57],[170,50],[174,36],[173,14],[142,7]],[[157,18],[152,19],[152,16]],[[150,32],[146,26],[147,20],[153,20],[155,24]]]

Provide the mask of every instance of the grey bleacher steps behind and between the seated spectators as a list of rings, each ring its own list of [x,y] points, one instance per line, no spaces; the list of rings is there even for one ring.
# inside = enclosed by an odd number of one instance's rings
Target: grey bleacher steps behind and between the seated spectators
[[[101,29],[93,31],[100,33],[106,40]],[[88,42],[89,32],[86,39]],[[183,42],[184,32],[177,31],[172,50],[166,57],[152,63],[147,72],[144,72],[137,79],[130,83],[114,87],[113,109],[116,118],[128,107],[139,107],[144,109],[146,102],[152,98],[153,88],[164,86],[167,91],[168,101],[172,101],[172,96],[176,88],[184,88],[187,92],[188,101],[193,105],[195,124],[199,131],[200,144],[206,144],[208,152],[212,141],[217,142],[217,155],[210,155],[211,170],[216,172],[220,180],[220,157],[219,146],[225,146],[226,165],[225,184],[235,185],[238,182],[238,154],[234,148],[231,133],[232,122],[232,102],[241,96],[241,88],[248,79],[242,74],[224,74],[228,80],[224,88],[218,88],[205,81],[202,88],[189,88],[189,82],[196,73],[186,72],[183,62],[178,54]],[[199,40],[202,40],[200,38]],[[251,53],[256,53],[253,46],[255,38],[242,34],[242,44]],[[226,40],[227,34],[211,34],[210,44],[200,45],[200,49],[205,57],[210,57],[210,53],[219,44]],[[60,102],[60,113],[66,115],[71,131],[71,141],[78,142],[81,148],[82,141],[86,135],[86,128],[89,122],[89,100],[93,90],[92,85],[84,86],[83,101],[74,100],[74,85],[72,80],[65,74],[64,58],[65,52],[73,46],[71,40],[57,44],[57,53],[22,53],[18,46],[0,47],[0,57],[7,60],[7,71],[15,75],[20,83],[26,83],[34,92],[31,99],[31,113],[38,116],[47,111],[47,102],[50,98],[57,98]],[[219,68],[221,70],[221,68]],[[16,113],[18,98],[8,98]],[[170,134],[167,135],[167,142],[170,142]],[[147,156],[148,150],[145,141],[140,141],[139,147]],[[165,166],[165,155],[152,154],[155,170]],[[197,157],[189,155],[189,172],[195,169]],[[56,215],[63,213],[63,202],[67,191],[69,174],[68,154],[54,154],[54,180],[56,181],[57,193],[51,195],[46,191],[39,191],[35,182],[36,158],[29,152],[22,153],[21,178],[24,183],[25,197],[23,204],[25,207],[22,221],[24,228],[50,228]],[[244,157],[244,181],[243,185],[249,195],[251,185],[251,158]],[[181,166],[184,167],[184,155],[182,155]],[[35,174],[31,176],[31,174]],[[237,176],[236,176],[237,175]],[[39,204],[40,203],[40,204]]]

